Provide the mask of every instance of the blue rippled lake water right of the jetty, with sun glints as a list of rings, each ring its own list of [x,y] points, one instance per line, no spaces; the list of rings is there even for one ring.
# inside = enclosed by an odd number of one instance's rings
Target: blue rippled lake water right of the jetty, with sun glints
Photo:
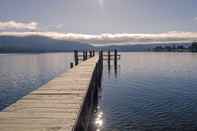
[[[197,54],[123,53],[104,64],[97,131],[196,131]]]

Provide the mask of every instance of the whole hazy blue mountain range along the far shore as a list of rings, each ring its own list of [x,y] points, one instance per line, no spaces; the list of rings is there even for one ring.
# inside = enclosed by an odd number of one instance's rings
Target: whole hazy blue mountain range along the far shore
[[[43,36],[0,36],[0,53],[36,53],[36,52],[70,52],[75,49],[82,51],[88,49],[97,50],[114,50],[118,51],[154,51],[157,47],[178,47],[188,48],[191,43],[147,43],[147,44],[122,44],[122,45],[106,45],[92,46],[88,43],[71,42],[65,40],[57,40]]]

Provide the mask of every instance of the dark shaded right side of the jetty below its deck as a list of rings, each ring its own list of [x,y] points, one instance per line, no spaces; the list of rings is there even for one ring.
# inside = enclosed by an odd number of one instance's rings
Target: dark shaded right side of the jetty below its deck
[[[90,82],[82,110],[78,117],[79,119],[73,129],[74,131],[92,130],[92,116],[95,113],[95,109],[98,105],[98,92],[101,89],[102,71],[103,63],[101,60],[99,60],[92,75],[92,80]]]

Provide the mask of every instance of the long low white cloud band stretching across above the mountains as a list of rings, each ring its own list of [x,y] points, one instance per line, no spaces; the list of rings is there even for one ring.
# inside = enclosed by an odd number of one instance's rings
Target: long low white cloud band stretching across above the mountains
[[[123,43],[123,42],[178,42],[178,41],[196,41],[197,32],[177,32],[171,31],[166,33],[155,34],[75,34],[75,33],[60,33],[60,32],[0,32],[0,36],[43,36],[53,39],[87,42],[95,44],[104,43]]]

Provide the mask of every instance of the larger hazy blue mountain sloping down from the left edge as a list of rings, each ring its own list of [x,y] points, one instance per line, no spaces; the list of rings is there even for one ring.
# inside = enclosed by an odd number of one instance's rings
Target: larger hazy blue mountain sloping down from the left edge
[[[0,36],[0,53],[12,52],[68,52],[94,48],[87,43],[56,40],[41,36]]]

